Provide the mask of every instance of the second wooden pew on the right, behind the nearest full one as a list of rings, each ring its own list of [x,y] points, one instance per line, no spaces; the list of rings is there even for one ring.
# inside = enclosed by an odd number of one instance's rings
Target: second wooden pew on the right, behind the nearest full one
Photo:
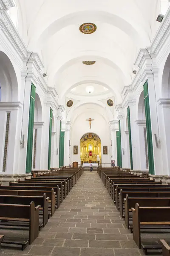
[[[135,208],[136,203],[138,203],[141,207],[170,207],[170,198],[129,198],[126,195],[124,198],[125,202],[125,224],[128,229],[133,230],[133,226],[129,224],[130,217],[129,213],[131,212],[131,208]]]

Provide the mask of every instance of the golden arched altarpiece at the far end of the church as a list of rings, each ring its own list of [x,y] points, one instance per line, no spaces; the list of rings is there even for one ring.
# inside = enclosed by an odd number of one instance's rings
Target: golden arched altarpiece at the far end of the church
[[[101,160],[101,140],[93,133],[83,135],[80,140],[80,158],[81,163],[97,163],[97,154]]]

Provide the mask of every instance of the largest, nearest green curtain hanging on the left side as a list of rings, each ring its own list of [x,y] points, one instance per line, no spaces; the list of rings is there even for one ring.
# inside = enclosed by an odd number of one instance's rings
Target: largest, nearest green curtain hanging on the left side
[[[28,122],[28,141],[27,141],[27,157],[26,157],[26,173],[32,169],[32,146],[34,133],[34,106],[35,106],[35,85],[31,82],[31,96],[29,107],[29,122]]]

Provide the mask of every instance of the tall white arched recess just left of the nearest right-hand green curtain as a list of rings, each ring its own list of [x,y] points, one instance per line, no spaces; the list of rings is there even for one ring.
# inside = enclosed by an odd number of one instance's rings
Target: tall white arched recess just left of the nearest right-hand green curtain
[[[148,152],[147,152],[147,130],[146,130],[146,118],[145,118],[145,108],[144,108],[144,91],[139,97],[138,103],[138,120],[136,121],[138,125],[139,134],[139,156],[140,156],[140,169],[149,169],[148,163]]]

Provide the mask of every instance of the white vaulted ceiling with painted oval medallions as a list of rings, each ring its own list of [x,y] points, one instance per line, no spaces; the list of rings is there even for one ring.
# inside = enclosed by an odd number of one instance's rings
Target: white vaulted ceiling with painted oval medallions
[[[40,54],[60,104],[65,96],[88,103],[98,94],[121,102],[123,87],[134,76],[136,54],[150,45],[161,12],[160,0],[16,0],[16,5],[20,35],[30,51]],[[96,32],[81,33],[79,26],[86,22],[94,23]],[[95,87],[87,99],[86,85]]]

